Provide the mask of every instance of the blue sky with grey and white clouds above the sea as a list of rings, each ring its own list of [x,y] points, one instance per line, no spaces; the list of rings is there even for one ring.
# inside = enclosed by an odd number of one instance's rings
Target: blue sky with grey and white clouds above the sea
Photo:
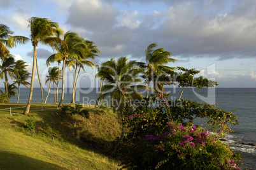
[[[201,70],[218,87],[256,88],[255,0],[0,0],[0,4],[0,24],[8,25],[14,35],[29,37],[27,20],[48,18],[64,32],[94,41],[101,51],[96,64],[121,56],[145,62],[146,47],[157,43],[178,60],[167,66]],[[10,48],[10,53],[27,62],[31,71],[32,49],[27,43]],[[45,75],[45,61],[54,52],[41,44],[37,50],[39,74]],[[78,86],[97,87],[96,69],[85,71]],[[73,71],[66,75],[72,80]],[[37,79],[34,82],[39,87]]]

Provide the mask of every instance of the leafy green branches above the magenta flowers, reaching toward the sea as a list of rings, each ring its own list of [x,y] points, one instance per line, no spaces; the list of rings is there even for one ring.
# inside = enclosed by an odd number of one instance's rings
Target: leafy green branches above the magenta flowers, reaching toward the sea
[[[215,132],[218,138],[224,138],[225,134],[231,132],[230,126],[238,124],[232,112],[215,108],[215,105],[190,100],[180,100],[178,103],[178,100],[169,100],[168,96],[169,94],[157,93],[152,97],[159,103],[159,109],[167,115],[169,122],[174,120],[187,124],[196,118],[204,118],[205,128]]]

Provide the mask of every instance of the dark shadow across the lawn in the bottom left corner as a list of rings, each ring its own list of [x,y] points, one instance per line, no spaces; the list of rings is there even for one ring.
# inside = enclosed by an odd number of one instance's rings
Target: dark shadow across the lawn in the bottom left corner
[[[11,152],[0,152],[0,169],[65,169],[42,160]]]

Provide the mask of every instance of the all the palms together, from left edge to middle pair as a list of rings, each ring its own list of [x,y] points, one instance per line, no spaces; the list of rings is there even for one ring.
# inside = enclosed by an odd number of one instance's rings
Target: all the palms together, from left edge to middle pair
[[[24,114],[29,113],[32,100],[32,92],[34,86],[34,73],[37,68],[38,71],[38,56],[36,47],[39,43],[42,45],[49,45],[53,48],[54,54],[48,57],[46,65],[49,66],[52,62],[57,62],[59,67],[50,67],[48,70],[47,80],[45,83],[50,82],[50,86],[53,83],[54,89],[54,103],[58,103],[58,90],[59,80],[62,79],[62,94],[60,97],[59,105],[62,104],[64,99],[64,80],[66,67],[73,67],[75,69],[75,79],[73,82],[73,97],[71,103],[75,103],[76,85],[78,83],[78,76],[80,71],[85,71],[84,66],[93,67],[96,66],[94,62],[89,59],[95,59],[99,50],[94,45],[93,41],[83,39],[76,32],[68,31],[64,34],[62,29],[56,22],[48,20],[48,18],[32,17],[28,20],[29,28],[31,31],[30,37],[24,36],[11,36],[13,34],[10,28],[6,25],[0,25],[0,55],[2,59],[1,66],[1,78],[5,78],[6,94],[8,93],[8,76],[10,78],[15,75],[15,83],[23,84],[27,87],[30,85],[29,99],[27,106],[24,110]],[[63,39],[60,38],[63,37]],[[31,74],[25,70],[25,62],[22,60],[17,61],[16,65],[10,64],[15,62],[8,50],[16,44],[24,44],[31,41],[33,46],[33,62]],[[8,47],[8,48],[7,48]],[[146,98],[148,97],[148,90],[154,90],[155,92],[162,92],[164,90],[164,84],[159,83],[157,78],[159,75],[173,73],[173,67],[165,66],[168,62],[176,62],[175,59],[170,58],[171,52],[167,52],[164,48],[158,48],[157,44],[151,44],[146,48],[146,62],[137,62],[136,60],[128,60],[127,57],[120,57],[119,59],[110,59],[107,62],[101,64],[101,67],[97,67],[97,78],[101,78],[101,87],[98,101],[110,96],[112,99],[116,99],[116,103],[113,106],[118,108],[124,108],[124,101],[132,99],[141,99],[143,96],[139,93],[138,89],[146,89]],[[11,61],[12,60],[12,61]],[[62,62],[62,69],[60,64]],[[9,64],[9,65],[8,65]],[[23,64],[23,65],[22,65]],[[13,71],[12,71],[13,70]],[[14,74],[15,73],[15,74]],[[16,74],[17,73],[17,74]],[[167,73],[167,74],[166,74]],[[141,78],[145,79],[146,85],[141,84]],[[165,76],[160,76],[165,79]],[[28,83],[28,78],[31,78],[31,83]],[[43,88],[38,76],[39,85],[41,87],[41,97],[43,103]],[[153,89],[149,87],[150,81],[153,83]],[[105,82],[105,84],[104,84]],[[57,92],[55,90],[57,85]],[[14,87],[14,85],[13,85]],[[50,88],[45,99],[47,101]],[[18,102],[18,100],[17,100]]]

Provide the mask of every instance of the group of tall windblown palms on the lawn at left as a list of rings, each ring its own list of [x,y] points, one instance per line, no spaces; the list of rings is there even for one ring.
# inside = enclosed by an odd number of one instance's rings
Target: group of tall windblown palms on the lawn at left
[[[64,99],[64,73],[65,73],[65,66],[74,67],[75,68],[75,80],[73,86],[73,100],[74,103],[75,99],[75,91],[76,85],[78,81],[78,76],[80,74],[80,70],[84,70],[83,65],[86,66],[95,66],[94,62],[88,59],[94,59],[99,53],[97,46],[94,45],[93,41],[85,40],[81,36],[79,36],[76,32],[68,31],[66,34],[60,29],[57,22],[52,22],[48,18],[39,18],[39,17],[32,17],[28,20],[29,28],[31,31],[30,37],[26,38],[24,36],[11,36],[13,31],[10,31],[10,28],[6,25],[0,25],[0,55],[1,59],[7,60],[10,58],[11,54],[7,47],[11,48],[16,44],[24,44],[31,41],[33,46],[33,62],[32,62],[32,73],[31,73],[31,83],[30,83],[30,92],[29,92],[29,99],[27,101],[27,106],[24,110],[24,114],[27,115],[29,113],[29,109],[31,106],[32,101],[32,92],[34,87],[34,73],[35,68],[38,71],[38,56],[36,52],[36,46],[39,43],[42,45],[49,45],[53,48],[56,52],[51,55],[47,60],[46,64],[49,65],[51,62],[58,62],[59,68],[50,68],[47,76],[46,83],[48,81],[53,82],[53,87],[57,84],[57,92],[54,94],[55,96],[55,103],[57,103],[58,99],[58,89],[59,89],[59,80],[62,78],[62,95],[60,97],[59,105],[62,104]],[[60,38],[63,36],[63,39]],[[60,76],[60,62],[62,61],[62,76]],[[3,64],[2,62],[2,64]],[[78,72],[77,72],[78,69]],[[56,72],[58,72],[58,78],[53,77],[56,76]],[[6,73],[9,73],[7,70]],[[3,72],[4,74],[4,72]],[[53,75],[54,74],[54,75]],[[6,74],[4,74],[6,75]],[[11,77],[11,76],[10,76]],[[7,81],[7,76],[4,76]],[[41,97],[43,103],[43,88],[41,85],[40,78],[38,76],[39,85],[41,88]],[[57,82],[56,82],[57,81]],[[26,84],[28,85],[28,84]],[[8,87],[6,86],[6,89]],[[6,93],[8,90],[6,90]],[[48,97],[48,95],[47,95]],[[47,99],[47,98],[46,98]]]

